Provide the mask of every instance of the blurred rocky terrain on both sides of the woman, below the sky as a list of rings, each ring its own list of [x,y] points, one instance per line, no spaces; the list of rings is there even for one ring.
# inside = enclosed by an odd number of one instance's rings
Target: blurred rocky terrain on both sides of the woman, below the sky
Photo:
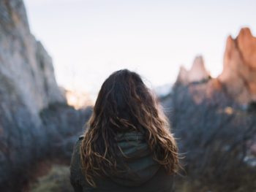
[[[249,28],[227,38],[223,66],[212,78],[197,56],[159,98],[184,155],[177,191],[256,190],[256,38]],[[1,0],[0,191],[72,191],[72,147],[91,107],[85,93],[62,90],[23,1]]]

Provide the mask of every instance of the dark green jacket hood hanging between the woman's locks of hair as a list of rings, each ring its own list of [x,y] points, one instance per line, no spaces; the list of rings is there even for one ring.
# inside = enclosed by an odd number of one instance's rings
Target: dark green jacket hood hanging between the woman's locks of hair
[[[138,131],[118,134],[116,141],[120,149],[119,156],[126,168],[111,177],[114,182],[119,185],[138,186],[157,173],[160,165],[154,161],[143,134]]]

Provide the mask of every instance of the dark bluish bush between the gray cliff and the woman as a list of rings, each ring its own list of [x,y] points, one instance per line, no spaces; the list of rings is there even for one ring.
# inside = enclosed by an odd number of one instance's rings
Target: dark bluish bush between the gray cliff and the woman
[[[92,112],[91,107],[75,110],[65,104],[52,104],[40,113],[45,127],[45,143],[48,144],[48,157],[70,161],[73,145]]]

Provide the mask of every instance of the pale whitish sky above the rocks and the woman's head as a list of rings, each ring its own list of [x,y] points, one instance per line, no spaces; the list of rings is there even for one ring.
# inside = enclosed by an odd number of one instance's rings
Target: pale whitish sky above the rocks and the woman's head
[[[242,26],[256,35],[256,1],[24,0],[31,32],[53,58],[59,85],[92,94],[118,69],[152,87],[203,55],[216,77],[225,41]]]

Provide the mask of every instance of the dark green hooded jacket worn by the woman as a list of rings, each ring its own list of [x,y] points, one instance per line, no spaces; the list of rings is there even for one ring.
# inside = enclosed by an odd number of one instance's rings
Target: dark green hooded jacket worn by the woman
[[[83,137],[80,137],[75,144],[70,166],[70,181],[75,192],[173,191],[173,175],[167,174],[163,166],[154,161],[145,137],[137,131],[117,134],[116,137],[117,145],[121,150],[117,162],[123,162],[126,165],[124,172],[110,175],[110,177],[95,177],[94,182],[97,187],[91,187],[80,169],[79,149],[82,140]]]

